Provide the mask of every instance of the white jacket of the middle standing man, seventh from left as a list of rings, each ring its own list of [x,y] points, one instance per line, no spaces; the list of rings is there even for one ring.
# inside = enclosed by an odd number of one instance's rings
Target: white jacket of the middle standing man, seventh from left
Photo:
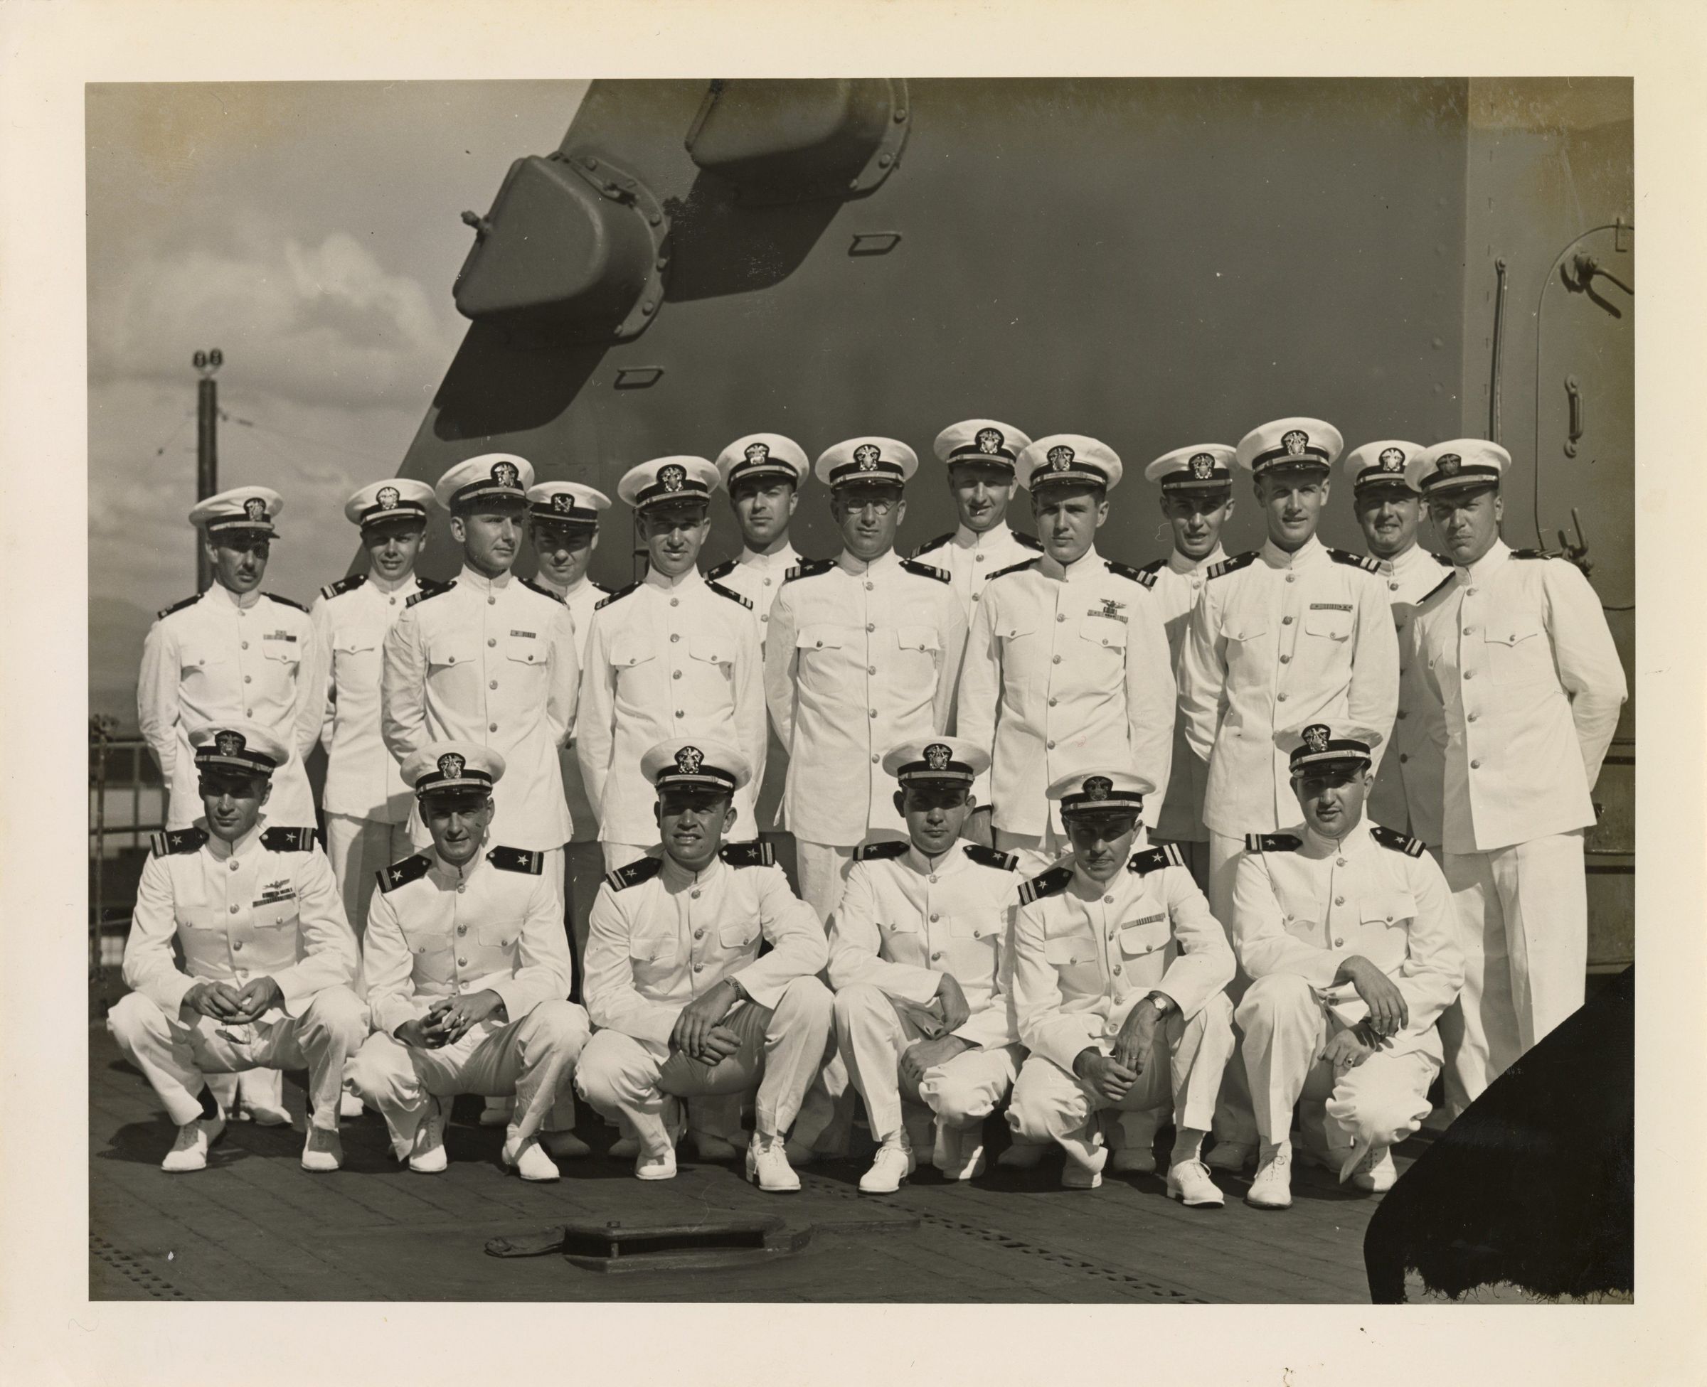
[[[946,732],[966,618],[941,568],[886,553],[799,565],[770,609],[765,699],[789,749],[784,822],[852,848],[906,833],[889,747]]]

